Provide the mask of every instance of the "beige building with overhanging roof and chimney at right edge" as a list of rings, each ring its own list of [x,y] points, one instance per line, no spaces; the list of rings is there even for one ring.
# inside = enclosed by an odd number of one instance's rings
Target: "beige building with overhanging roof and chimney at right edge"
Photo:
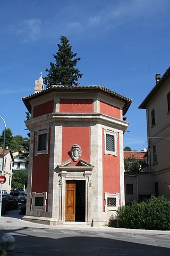
[[[170,199],[170,67],[139,106],[146,109],[149,171],[154,173],[155,195]]]

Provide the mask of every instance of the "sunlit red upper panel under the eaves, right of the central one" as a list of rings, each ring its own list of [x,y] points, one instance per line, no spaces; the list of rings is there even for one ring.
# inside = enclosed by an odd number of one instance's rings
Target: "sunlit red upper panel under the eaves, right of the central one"
[[[106,102],[100,101],[100,113],[115,118],[121,118],[121,110],[115,106],[109,105]]]

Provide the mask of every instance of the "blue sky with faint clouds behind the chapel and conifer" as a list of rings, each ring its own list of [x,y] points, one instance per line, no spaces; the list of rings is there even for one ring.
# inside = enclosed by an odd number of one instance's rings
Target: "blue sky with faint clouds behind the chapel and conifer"
[[[169,0],[3,1],[0,116],[6,126],[27,137],[22,97],[34,92],[40,71],[46,76],[64,35],[81,58],[81,85],[103,85],[133,100],[124,147],[146,148],[146,111],[138,107],[155,86],[155,74],[170,66],[169,13]]]

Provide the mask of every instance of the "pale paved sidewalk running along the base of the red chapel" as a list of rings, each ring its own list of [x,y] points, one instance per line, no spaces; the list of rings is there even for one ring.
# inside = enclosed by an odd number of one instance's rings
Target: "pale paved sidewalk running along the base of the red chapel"
[[[0,218],[0,229],[20,229],[20,228],[35,228],[35,229],[65,229],[65,230],[83,230],[83,231],[102,231],[102,232],[112,232],[112,233],[130,233],[130,234],[160,234],[160,235],[170,235],[170,231],[161,231],[161,230],[141,230],[141,229],[125,229],[125,228],[111,228],[107,226],[102,227],[89,227],[87,225],[82,225],[79,222],[79,225],[74,222],[69,223],[68,225],[64,223],[62,226],[49,226],[39,223],[33,223],[30,221],[22,220],[23,215],[19,214],[19,210],[9,212],[7,215],[2,215]]]

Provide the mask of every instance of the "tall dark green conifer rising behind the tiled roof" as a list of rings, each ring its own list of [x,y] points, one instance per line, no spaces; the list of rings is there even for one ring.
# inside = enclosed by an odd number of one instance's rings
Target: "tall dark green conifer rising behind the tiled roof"
[[[44,77],[44,83],[47,88],[52,85],[75,85],[80,74],[80,70],[75,68],[80,58],[74,58],[77,53],[72,52],[72,46],[69,44],[69,40],[65,36],[60,37],[61,44],[58,45],[58,52],[53,57],[56,61],[54,64],[50,62],[50,69],[46,69],[48,75]]]

